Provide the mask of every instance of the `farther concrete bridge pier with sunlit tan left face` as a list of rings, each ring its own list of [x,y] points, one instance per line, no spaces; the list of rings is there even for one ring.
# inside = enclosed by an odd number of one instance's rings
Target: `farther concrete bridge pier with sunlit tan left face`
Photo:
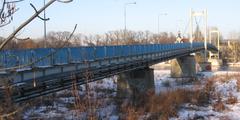
[[[192,55],[171,61],[171,77],[195,77],[196,61]]]

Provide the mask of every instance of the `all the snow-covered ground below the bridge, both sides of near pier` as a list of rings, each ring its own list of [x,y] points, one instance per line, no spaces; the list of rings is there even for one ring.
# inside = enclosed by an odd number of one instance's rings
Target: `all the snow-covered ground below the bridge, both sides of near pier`
[[[240,72],[239,72],[240,73]],[[199,73],[200,77],[210,78],[213,76],[221,76],[221,75],[233,75],[238,74],[238,72],[226,72],[226,71],[217,71],[217,72],[203,72]],[[93,82],[91,83],[90,89],[91,92],[90,98],[94,99],[95,102],[92,103],[96,105],[97,109],[94,109],[94,112],[97,113],[97,117],[101,117],[106,120],[118,120],[119,115],[117,113],[117,105],[114,102],[113,98],[116,96],[116,77],[104,79],[103,81]],[[170,78],[170,70],[155,70],[154,71],[154,80],[155,80],[155,91],[157,94],[161,92],[165,92],[168,89],[192,89],[199,87],[201,89],[202,86],[196,86],[195,84],[179,84],[176,83],[176,79]],[[204,84],[204,81],[201,81]],[[226,80],[225,82],[216,81],[214,83],[215,92],[220,93],[220,96],[223,101],[227,100],[230,96],[236,97],[240,100],[240,92],[237,87],[237,79],[231,78]],[[86,96],[86,88],[84,85],[80,87],[79,90],[80,97]],[[40,106],[34,106],[28,108],[24,114],[23,119],[87,119],[86,116],[89,114],[87,111],[89,109],[85,109],[85,111],[79,111],[74,108],[75,98],[72,96],[72,92],[66,90],[70,96],[62,96],[61,94],[64,92],[57,93],[57,96],[60,96],[53,102],[51,106],[41,104]],[[106,93],[107,92],[107,93]],[[100,101],[99,101],[100,99]],[[101,102],[98,103],[98,102]],[[211,103],[216,102],[215,99],[211,101]],[[239,120],[240,118],[240,103],[237,102],[235,104],[226,104],[226,110],[218,112],[213,108],[213,104],[209,104],[208,106],[196,106],[191,104],[182,105],[181,109],[178,112],[177,118],[171,118],[171,120]],[[82,106],[83,107],[83,106]]]

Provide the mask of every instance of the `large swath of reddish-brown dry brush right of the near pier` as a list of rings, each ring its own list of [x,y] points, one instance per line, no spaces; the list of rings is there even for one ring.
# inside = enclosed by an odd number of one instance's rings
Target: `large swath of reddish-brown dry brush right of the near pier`
[[[154,91],[148,91],[147,94],[141,97],[144,99],[140,102],[141,106],[126,107],[123,106],[122,113],[126,117],[123,119],[139,119],[139,117],[150,113],[148,119],[167,120],[170,117],[177,117],[178,110],[185,103],[195,105],[209,104],[210,95],[213,87],[213,81],[209,80],[203,89],[172,89],[160,95],[155,95]],[[140,111],[139,111],[140,110]],[[143,112],[143,111],[144,112]]]

